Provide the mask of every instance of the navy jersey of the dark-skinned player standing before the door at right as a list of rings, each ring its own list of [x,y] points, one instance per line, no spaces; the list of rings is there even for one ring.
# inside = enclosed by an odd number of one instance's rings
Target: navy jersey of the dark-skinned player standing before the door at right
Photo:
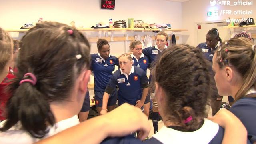
[[[198,44],[198,46],[196,48],[198,48],[203,53],[204,57],[207,60],[212,62],[214,52],[218,48],[218,46],[216,46],[214,49],[212,49],[212,48],[209,48],[208,46],[206,46],[206,42],[204,42],[204,43]]]

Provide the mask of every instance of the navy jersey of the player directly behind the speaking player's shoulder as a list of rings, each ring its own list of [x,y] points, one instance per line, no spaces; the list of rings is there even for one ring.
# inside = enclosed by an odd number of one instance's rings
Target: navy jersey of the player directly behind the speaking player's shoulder
[[[147,69],[149,67],[149,59],[147,56],[142,54],[140,56],[140,59],[137,59],[133,54],[131,54],[132,57],[132,65],[142,68],[147,73]]]

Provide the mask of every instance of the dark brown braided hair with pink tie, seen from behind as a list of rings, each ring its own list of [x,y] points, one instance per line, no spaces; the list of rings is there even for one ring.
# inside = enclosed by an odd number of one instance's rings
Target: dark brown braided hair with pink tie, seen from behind
[[[202,125],[212,91],[209,67],[197,48],[176,45],[164,50],[153,69],[154,80],[166,94],[164,115],[186,131]],[[192,120],[184,123],[190,116]]]

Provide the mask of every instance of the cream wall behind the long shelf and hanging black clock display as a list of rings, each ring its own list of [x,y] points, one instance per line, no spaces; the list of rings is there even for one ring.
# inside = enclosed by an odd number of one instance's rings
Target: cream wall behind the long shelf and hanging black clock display
[[[172,28],[182,28],[182,10],[180,2],[165,0],[116,0],[115,10],[100,9],[100,0],[2,0],[0,5],[0,27],[18,29],[25,23],[35,24],[42,17],[45,21],[57,21],[69,24],[76,22],[77,26],[89,28],[103,21],[108,24],[113,21],[128,18],[144,20],[147,23],[170,23]],[[114,32],[114,36],[124,36],[124,32]],[[128,32],[129,36],[139,34],[153,35],[152,32]],[[170,32],[168,33],[170,34]],[[180,32],[175,33],[180,36]],[[24,34],[20,33],[18,39]],[[86,36],[101,36],[102,32],[86,32]],[[181,43],[180,40],[177,43]],[[111,51],[115,54],[124,53],[129,42],[110,42]],[[92,52],[96,52],[96,43],[92,43]]]

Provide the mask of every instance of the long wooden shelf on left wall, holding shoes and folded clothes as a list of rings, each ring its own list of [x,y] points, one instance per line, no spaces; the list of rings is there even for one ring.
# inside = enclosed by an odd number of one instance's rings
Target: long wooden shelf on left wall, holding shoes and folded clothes
[[[26,32],[29,29],[7,29],[7,32]],[[182,31],[188,31],[186,29],[149,29],[149,28],[78,28],[78,30],[81,31],[172,31],[172,32],[182,32]]]

